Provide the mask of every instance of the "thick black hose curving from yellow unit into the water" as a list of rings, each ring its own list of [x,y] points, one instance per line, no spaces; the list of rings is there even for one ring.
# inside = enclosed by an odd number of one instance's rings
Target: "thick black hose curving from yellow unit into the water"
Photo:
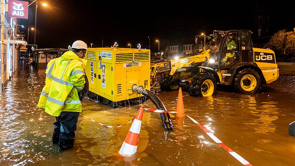
[[[142,94],[146,96],[147,98],[149,98],[157,107],[157,109],[167,111],[163,102],[155,94],[153,94],[153,92],[145,89],[143,86],[133,85],[132,91],[136,91],[138,94]],[[167,130],[172,130],[173,125],[172,125],[169,113],[160,113],[160,116],[162,119],[163,127]]]

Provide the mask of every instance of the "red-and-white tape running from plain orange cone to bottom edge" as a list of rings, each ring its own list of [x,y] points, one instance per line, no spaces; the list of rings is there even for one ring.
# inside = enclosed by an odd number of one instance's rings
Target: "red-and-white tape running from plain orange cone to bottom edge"
[[[186,116],[189,117],[188,115],[186,115]],[[222,148],[224,148],[228,153],[230,153],[235,159],[237,159],[243,165],[252,166],[252,164],[250,164],[247,160],[245,160],[240,155],[238,155],[238,153],[235,153],[228,146],[226,146],[223,142],[221,142],[217,137],[215,137],[215,135],[213,135],[206,127],[204,127],[203,125],[201,125],[199,122],[197,122],[196,120],[194,120],[191,117],[189,117],[189,119],[192,120],[194,123],[196,123],[204,132],[206,132],[206,134],[210,138],[212,138],[215,141],[215,143],[218,143]]]

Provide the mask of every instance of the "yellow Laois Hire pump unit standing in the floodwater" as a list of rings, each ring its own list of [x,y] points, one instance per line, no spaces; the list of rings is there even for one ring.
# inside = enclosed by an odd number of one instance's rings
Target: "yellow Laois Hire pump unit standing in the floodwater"
[[[97,101],[117,107],[146,100],[132,86],[150,90],[149,49],[89,48],[84,59],[90,96]]]

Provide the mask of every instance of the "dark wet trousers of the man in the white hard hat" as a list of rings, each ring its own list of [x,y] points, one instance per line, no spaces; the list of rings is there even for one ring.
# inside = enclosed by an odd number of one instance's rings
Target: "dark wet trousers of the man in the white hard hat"
[[[52,143],[58,143],[59,150],[73,148],[78,117],[79,112],[67,111],[61,112],[59,117],[55,117]]]

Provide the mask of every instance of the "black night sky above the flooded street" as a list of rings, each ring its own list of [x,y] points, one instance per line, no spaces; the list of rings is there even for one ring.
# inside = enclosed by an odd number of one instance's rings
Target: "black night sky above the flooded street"
[[[67,48],[75,40],[83,40],[88,46],[111,46],[115,41],[119,47],[132,48],[140,43],[151,50],[168,45],[194,44],[194,36],[213,30],[254,30],[256,2],[238,3],[191,3],[168,1],[151,3],[136,1],[129,3],[99,3],[81,0],[38,0],[37,37],[38,48]],[[29,0],[29,3],[33,2]],[[48,3],[43,7],[41,3]],[[206,1],[204,1],[206,2]],[[147,4],[145,4],[147,3]],[[271,29],[293,30],[295,28],[295,3],[269,4]],[[34,27],[35,3],[29,6],[29,19],[20,19],[24,25],[20,31],[26,35],[28,27]],[[26,38],[27,39],[27,38]],[[29,32],[29,44],[34,44],[34,31]]]

